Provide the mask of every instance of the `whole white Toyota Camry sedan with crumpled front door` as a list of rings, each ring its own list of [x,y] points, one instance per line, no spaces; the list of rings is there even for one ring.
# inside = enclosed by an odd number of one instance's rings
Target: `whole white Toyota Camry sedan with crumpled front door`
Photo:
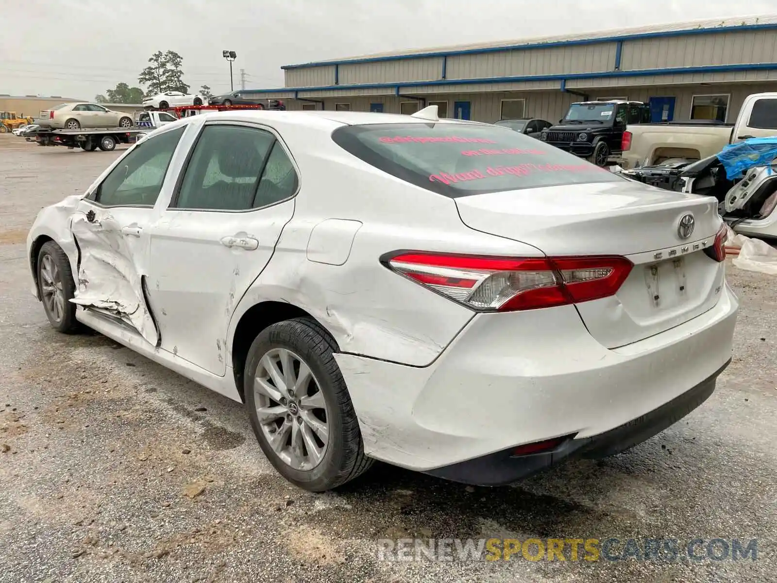
[[[712,197],[432,106],[176,121],[27,248],[56,330],[246,403],[320,491],[374,459],[507,484],[664,430],[731,358],[724,239]]]

